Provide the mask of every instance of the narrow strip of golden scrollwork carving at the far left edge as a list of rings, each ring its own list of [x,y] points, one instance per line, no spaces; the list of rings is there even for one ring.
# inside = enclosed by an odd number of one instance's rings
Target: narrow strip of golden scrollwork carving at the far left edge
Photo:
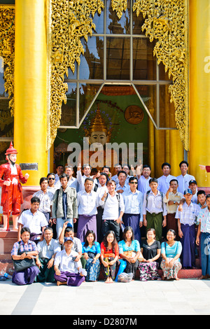
[[[14,114],[14,62],[15,62],[15,8],[0,6],[0,57],[3,58],[4,87],[10,98],[9,107]]]

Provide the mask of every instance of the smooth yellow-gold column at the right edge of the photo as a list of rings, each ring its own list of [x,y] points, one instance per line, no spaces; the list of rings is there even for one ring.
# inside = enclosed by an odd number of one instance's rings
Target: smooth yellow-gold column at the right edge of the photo
[[[190,152],[189,172],[198,186],[210,186],[199,165],[210,164],[210,2],[190,0]]]

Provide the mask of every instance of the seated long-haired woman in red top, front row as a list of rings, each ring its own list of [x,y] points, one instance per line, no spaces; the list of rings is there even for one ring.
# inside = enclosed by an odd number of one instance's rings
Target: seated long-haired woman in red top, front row
[[[119,258],[118,242],[115,232],[108,231],[101,244],[102,272],[105,283],[113,283],[116,276],[116,261]]]

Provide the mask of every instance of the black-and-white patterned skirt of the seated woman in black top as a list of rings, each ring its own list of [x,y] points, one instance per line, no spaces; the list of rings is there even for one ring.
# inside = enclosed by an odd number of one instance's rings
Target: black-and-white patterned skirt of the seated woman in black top
[[[158,262],[139,262],[140,281],[158,280]]]

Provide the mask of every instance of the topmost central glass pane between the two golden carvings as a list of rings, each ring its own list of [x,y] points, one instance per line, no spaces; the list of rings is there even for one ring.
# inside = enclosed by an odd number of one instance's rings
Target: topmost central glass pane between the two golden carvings
[[[106,1],[106,34],[130,34],[130,1],[120,19],[116,10],[112,10],[111,0]]]

